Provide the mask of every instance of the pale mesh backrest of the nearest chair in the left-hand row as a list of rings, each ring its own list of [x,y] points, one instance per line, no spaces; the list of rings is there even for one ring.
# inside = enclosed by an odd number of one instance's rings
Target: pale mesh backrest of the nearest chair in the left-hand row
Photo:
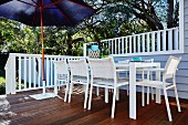
[[[93,79],[114,79],[116,77],[113,58],[88,59],[91,74]]]

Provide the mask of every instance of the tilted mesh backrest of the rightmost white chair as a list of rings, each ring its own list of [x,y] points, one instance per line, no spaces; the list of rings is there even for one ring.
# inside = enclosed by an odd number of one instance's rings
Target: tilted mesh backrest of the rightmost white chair
[[[166,66],[165,66],[165,72],[164,76],[166,79],[174,77],[176,75],[177,66],[180,62],[181,58],[175,58],[175,56],[169,56]]]

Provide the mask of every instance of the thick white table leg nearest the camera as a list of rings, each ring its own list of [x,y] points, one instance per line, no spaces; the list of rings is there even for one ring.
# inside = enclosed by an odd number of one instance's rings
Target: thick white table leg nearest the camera
[[[136,119],[136,64],[129,63],[129,117]]]

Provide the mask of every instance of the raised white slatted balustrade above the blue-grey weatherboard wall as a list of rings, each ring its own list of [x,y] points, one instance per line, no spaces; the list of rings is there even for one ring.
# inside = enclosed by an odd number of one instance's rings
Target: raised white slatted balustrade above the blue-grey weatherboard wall
[[[184,41],[179,41],[179,28],[165,29],[159,31],[119,37],[101,41],[103,49],[108,50],[113,55],[153,55],[173,54],[184,51]],[[84,56],[86,55],[84,44]]]

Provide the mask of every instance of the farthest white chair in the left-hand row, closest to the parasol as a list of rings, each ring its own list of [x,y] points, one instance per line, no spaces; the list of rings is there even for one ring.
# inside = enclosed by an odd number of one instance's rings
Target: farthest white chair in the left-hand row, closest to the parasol
[[[55,70],[55,92],[58,92],[58,86],[60,90],[61,85],[66,85],[64,102],[66,102],[69,84],[70,84],[70,71],[66,63],[66,60],[63,61],[54,61],[54,70]],[[58,94],[58,93],[55,93]]]

